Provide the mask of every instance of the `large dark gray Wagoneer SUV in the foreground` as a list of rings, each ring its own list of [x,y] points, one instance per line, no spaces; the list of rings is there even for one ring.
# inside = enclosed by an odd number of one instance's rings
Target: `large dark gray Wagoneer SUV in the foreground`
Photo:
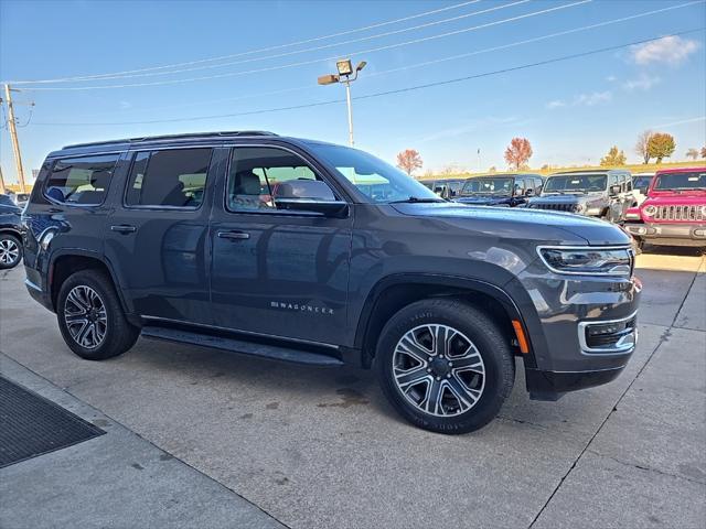
[[[28,290],[92,360],[141,334],[374,367],[407,420],[461,433],[496,415],[515,357],[531,397],[556,400],[612,380],[634,349],[641,287],[621,229],[446,202],[330,143],[69,145],[42,165],[23,222]]]

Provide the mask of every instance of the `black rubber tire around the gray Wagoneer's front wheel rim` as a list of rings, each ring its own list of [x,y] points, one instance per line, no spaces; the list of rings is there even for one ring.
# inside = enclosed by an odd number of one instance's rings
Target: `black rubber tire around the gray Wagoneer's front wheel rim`
[[[403,389],[398,386],[395,377],[395,373],[399,376],[400,373],[410,373],[409,369],[420,369],[422,367],[424,370],[430,373],[431,377],[428,378],[428,381],[421,382],[426,384],[425,391],[427,396],[431,392],[435,380],[441,380],[441,382],[437,384],[445,384],[445,375],[436,376],[439,373],[436,371],[436,365],[432,361],[428,361],[420,367],[414,366],[403,371],[399,370],[399,364],[394,367],[400,359],[400,355],[396,355],[395,350],[403,337],[409,336],[408,333],[410,332],[420,332],[419,330],[421,328],[422,335],[420,339],[424,339],[425,325],[452,327],[462,338],[468,338],[471,342],[478,353],[475,356],[480,355],[482,358],[484,374],[480,397],[466,411],[461,409],[459,399],[456,399],[459,406],[454,409],[453,399],[451,398],[450,413],[456,413],[451,414],[451,417],[440,417],[438,413],[419,409],[419,406],[424,404],[415,404],[411,401],[415,400],[414,396],[409,396],[410,392],[419,395],[419,389],[417,389],[419,386],[408,386],[406,393],[403,393]],[[445,334],[445,336],[448,335]],[[452,342],[452,339],[447,342]],[[448,349],[450,348],[451,346],[449,345]],[[439,355],[439,357],[443,359],[442,355]],[[429,356],[428,359],[432,357]],[[453,359],[453,357],[448,356],[448,359]],[[450,366],[451,363],[448,365]],[[443,368],[443,366],[441,367]],[[400,415],[419,428],[447,434],[472,432],[492,421],[498,415],[505,399],[510,396],[515,379],[515,364],[510,348],[510,337],[506,336],[506,333],[503,333],[482,311],[453,299],[418,301],[395,314],[381,333],[375,355],[375,368],[385,397]],[[429,371],[429,369],[432,369],[432,371]],[[421,373],[419,376],[425,375]],[[453,374],[447,374],[446,377],[450,379],[446,384],[458,382]],[[480,379],[480,375],[478,377]],[[463,387],[467,386],[469,385]],[[413,389],[410,390],[409,387]],[[443,389],[439,395],[442,403],[435,409],[443,414],[448,411],[443,404],[445,398],[449,400],[452,395]],[[427,397],[424,400],[426,401]]]

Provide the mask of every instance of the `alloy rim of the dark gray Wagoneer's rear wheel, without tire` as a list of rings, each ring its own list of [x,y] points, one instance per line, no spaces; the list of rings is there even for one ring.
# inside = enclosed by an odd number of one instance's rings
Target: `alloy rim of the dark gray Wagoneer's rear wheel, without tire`
[[[106,307],[90,287],[74,287],[64,302],[64,322],[71,337],[86,349],[95,349],[108,330]]]

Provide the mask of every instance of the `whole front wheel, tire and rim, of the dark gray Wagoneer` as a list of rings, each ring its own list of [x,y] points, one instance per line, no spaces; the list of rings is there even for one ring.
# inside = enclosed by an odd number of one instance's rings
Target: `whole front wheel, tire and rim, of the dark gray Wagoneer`
[[[467,433],[492,421],[510,396],[515,365],[509,339],[478,309],[424,300],[395,314],[375,355],[383,392],[413,424]]]

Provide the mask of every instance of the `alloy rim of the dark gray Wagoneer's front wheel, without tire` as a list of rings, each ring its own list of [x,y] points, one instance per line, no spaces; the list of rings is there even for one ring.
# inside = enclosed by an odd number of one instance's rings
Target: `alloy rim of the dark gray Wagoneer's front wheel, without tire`
[[[419,325],[399,339],[393,354],[399,392],[419,411],[435,417],[467,412],[485,387],[485,365],[475,345],[448,325]]]

